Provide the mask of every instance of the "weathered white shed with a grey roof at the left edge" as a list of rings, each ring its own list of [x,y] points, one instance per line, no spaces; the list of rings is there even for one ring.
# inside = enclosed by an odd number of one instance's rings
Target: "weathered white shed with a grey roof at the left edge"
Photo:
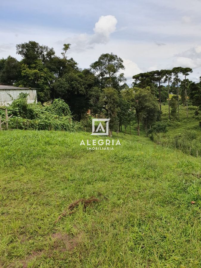
[[[8,106],[13,100],[18,99],[20,93],[29,94],[27,97],[28,103],[37,102],[37,94],[35,88],[21,88],[12,85],[0,85],[0,106]]]

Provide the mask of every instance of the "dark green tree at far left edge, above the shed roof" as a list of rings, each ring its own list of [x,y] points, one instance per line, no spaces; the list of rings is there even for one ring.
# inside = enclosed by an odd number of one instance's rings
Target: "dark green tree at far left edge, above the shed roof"
[[[0,82],[13,85],[20,77],[20,63],[17,59],[8,56],[1,60]]]

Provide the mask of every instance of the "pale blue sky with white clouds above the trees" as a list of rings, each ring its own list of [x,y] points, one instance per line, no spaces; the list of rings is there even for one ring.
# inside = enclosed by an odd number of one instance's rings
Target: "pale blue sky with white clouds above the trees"
[[[1,0],[0,58],[16,54],[16,44],[36,41],[53,47],[80,68],[102,53],[124,60],[127,83],[140,72],[191,67],[201,75],[201,0]]]

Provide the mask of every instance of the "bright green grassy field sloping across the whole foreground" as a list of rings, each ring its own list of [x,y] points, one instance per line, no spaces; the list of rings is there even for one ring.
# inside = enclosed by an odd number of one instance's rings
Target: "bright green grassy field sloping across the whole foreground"
[[[1,266],[200,267],[201,158],[123,133],[113,151],[80,146],[91,137],[0,132]]]

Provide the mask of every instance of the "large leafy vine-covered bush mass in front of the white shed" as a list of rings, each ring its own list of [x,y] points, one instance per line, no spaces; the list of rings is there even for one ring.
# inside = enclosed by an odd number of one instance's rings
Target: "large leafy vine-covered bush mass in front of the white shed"
[[[62,99],[55,99],[49,106],[39,103],[27,103],[27,94],[20,94],[11,108],[18,110],[9,119],[9,127],[30,130],[81,130],[81,124],[72,121],[68,104]]]

